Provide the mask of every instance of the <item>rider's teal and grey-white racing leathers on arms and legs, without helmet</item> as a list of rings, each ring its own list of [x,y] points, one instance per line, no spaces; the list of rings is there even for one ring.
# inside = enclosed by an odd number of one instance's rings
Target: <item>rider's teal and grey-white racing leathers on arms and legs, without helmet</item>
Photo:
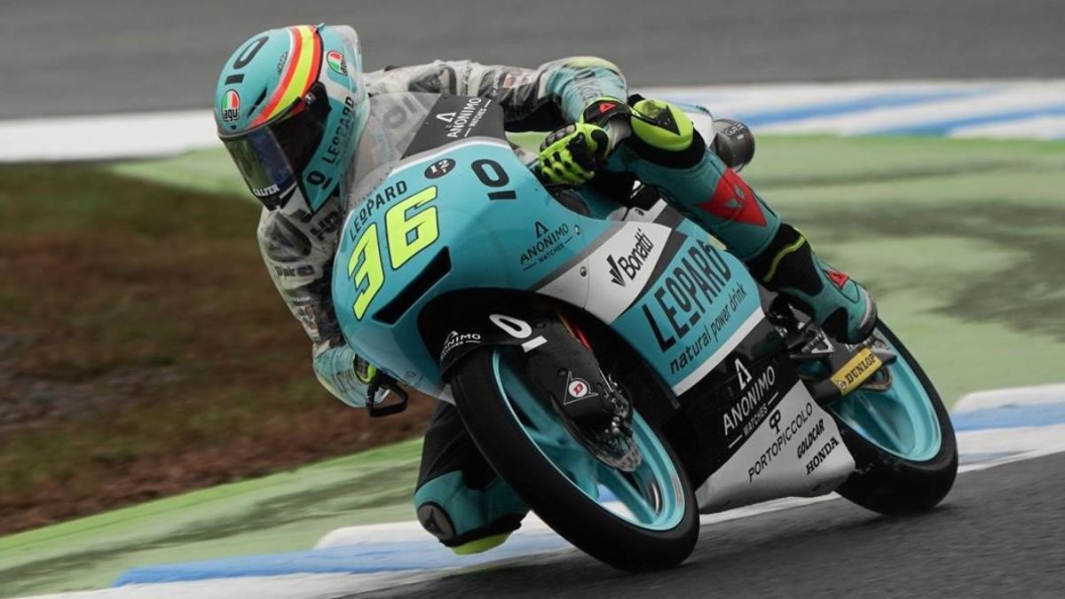
[[[364,77],[371,96],[426,92],[493,98],[504,110],[508,131],[548,131],[579,124],[594,115],[596,107],[624,104],[627,97],[618,67],[588,56],[562,59],[537,69],[436,61]],[[613,148],[609,159],[604,158],[603,136],[590,125],[569,128],[548,140],[574,149],[571,143],[589,143],[606,171],[635,175],[653,187],[724,242],[767,286],[804,305],[826,330],[835,323],[840,337],[867,334],[875,311],[857,284],[820,262],[802,234],[782,223],[708,149],[675,107],[642,99],[632,103],[632,111],[645,120],[634,122],[632,137]],[[555,147],[547,150],[551,159],[556,157]],[[568,169],[562,152],[558,158],[552,162],[541,157],[540,164],[551,163],[553,169],[558,168],[555,175],[567,181],[583,182],[593,175],[587,169]],[[345,403],[362,406],[374,368],[346,344],[330,296],[333,254],[344,216],[338,197],[313,214],[299,206],[264,209],[259,241],[274,282],[311,337],[318,379]],[[414,503],[423,527],[459,553],[498,545],[527,512],[480,455],[456,408],[445,402],[438,403],[425,435]]]

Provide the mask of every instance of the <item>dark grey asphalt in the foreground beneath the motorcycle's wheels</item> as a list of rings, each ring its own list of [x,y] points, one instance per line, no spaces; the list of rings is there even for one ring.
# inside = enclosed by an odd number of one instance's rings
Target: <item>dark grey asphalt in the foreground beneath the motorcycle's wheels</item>
[[[627,576],[571,552],[348,597],[1063,597],[1065,454],[958,476],[935,511],[829,501],[703,528],[678,569]]]

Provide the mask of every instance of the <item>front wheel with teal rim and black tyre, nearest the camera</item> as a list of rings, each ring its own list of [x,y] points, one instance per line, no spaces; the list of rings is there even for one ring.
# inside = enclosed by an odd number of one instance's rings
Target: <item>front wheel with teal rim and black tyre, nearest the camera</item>
[[[630,472],[608,466],[574,439],[524,367],[520,349],[487,346],[452,378],[459,414],[495,471],[552,529],[606,564],[639,571],[683,562],[699,514],[669,444],[635,414],[640,465]]]

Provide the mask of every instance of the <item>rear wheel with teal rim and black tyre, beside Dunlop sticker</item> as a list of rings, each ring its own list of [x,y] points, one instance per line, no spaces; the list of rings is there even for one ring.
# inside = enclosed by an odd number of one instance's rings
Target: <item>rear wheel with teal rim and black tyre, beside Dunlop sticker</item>
[[[954,484],[954,428],[939,394],[899,338],[882,322],[875,335],[898,355],[886,367],[890,388],[859,388],[826,406],[856,465],[837,490],[881,514],[930,509]]]

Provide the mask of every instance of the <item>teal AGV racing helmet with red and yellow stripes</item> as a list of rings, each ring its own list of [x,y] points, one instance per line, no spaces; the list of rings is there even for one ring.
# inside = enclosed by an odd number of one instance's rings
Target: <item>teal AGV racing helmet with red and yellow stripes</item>
[[[359,37],[347,26],[253,35],[215,88],[218,137],[271,210],[296,201],[313,213],[338,193],[367,112]]]

